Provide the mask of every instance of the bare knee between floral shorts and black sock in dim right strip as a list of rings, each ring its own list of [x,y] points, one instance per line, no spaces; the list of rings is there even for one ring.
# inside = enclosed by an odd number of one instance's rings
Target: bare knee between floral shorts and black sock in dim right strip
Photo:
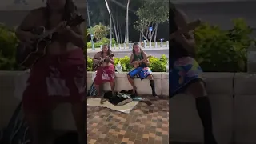
[[[194,98],[207,96],[206,87],[202,81],[191,83],[186,93],[192,95]]]

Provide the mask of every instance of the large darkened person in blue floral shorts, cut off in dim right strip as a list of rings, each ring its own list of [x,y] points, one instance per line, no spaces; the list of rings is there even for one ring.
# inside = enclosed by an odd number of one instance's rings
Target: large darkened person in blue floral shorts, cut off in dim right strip
[[[170,98],[175,94],[186,92],[195,98],[196,109],[204,129],[204,143],[217,144],[212,126],[211,106],[205,83],[199,77],[202,69],[195,61],[195,41],[191,31],[181,33],[187,26],[186,14],[170,4]]]

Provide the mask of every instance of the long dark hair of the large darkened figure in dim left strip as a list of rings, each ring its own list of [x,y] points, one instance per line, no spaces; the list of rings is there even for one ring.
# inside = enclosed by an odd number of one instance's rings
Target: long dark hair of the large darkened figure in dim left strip
[[[43,2],[45,0],[42,0]],[[50,28],[50,6],[48,4],[48,0],[46,0],[46,28]],[[75,6],[73,0],[66,0],[65,6],[64,6],[64,12],[62,15],[62,21],[66,21],[69,23],[70,21],[74,20],[78,16],[78,7]]]

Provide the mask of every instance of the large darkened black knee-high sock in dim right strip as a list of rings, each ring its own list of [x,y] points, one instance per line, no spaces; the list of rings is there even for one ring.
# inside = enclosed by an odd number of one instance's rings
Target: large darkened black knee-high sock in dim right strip
[[[202,126],[204,129],[204,143],[217,144],[213,134],[213,123],[211,117],[211,106],[208,97],[196,98],[196,107],[198,115],[201,118]]]

